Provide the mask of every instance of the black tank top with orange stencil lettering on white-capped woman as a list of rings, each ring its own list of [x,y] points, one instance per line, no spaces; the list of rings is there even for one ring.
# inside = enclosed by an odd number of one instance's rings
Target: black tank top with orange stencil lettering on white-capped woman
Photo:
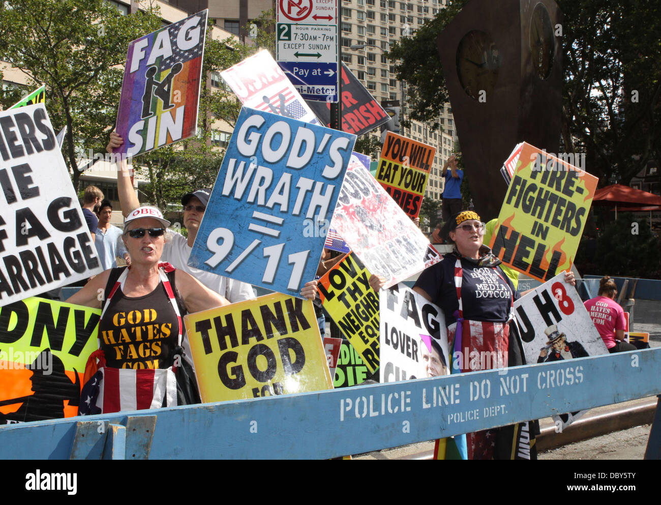
[[[178,339],[178,320],[163,282],[148,295],[126,297],[122,288],[110,299],[98,325],[106,366],[168,368]]]

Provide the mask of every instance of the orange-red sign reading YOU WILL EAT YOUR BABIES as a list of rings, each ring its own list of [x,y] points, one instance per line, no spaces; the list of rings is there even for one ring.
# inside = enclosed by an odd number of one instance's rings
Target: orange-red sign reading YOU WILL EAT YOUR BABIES
[[[387,132],[376,180],[409,217],[418,217],[436,147]]]

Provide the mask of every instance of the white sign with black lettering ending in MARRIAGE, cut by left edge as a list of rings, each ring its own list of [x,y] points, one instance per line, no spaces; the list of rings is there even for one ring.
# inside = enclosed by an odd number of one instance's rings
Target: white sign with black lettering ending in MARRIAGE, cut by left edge
[[[102,270],[44,104],[0,113],[0,305]]]

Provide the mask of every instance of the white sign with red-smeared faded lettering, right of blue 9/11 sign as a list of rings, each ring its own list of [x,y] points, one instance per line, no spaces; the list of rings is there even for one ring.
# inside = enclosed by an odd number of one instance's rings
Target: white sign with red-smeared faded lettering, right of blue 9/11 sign
[[[331,226],[372,274],[393,286],[440,261],[427,237],[360,163],[350,163]]]

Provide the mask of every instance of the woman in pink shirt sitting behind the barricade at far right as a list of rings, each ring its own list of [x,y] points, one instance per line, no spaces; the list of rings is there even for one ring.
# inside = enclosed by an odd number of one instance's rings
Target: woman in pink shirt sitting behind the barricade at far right
[[[609,276],[603,276],[599,282],[598,296],[589,299],[583,305],[588,310],[592,322],[606,344],[608,352],[635,351],[629,342],[624,342],[626,321],[622,307],[615,301],[617,286]]]

